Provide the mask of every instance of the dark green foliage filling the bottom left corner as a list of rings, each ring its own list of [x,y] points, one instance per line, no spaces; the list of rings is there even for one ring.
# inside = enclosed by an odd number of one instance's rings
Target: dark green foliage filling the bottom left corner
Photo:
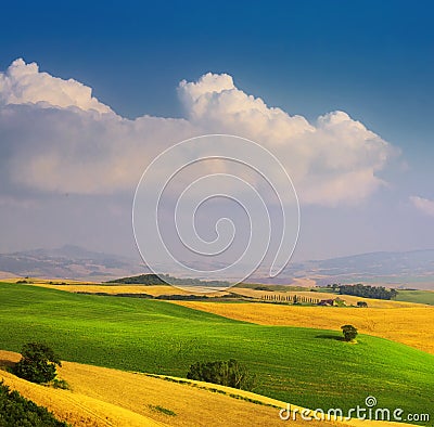
[[[66,423],[54,418],[46,407],[23,398],[17,391],[0,383],[0,426],[1,427],[67,427]]]

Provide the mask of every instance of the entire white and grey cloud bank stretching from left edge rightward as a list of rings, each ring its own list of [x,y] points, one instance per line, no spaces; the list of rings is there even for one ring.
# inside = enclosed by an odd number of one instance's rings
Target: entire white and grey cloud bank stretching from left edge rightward
[[[344,112],[315,122],[238,89],[227,74],[178,87],[186,119],[123,118],[91,88],[16,60],[0,74],[0,174],[39,192],[131,192],[150,161],[174,143],[215,132],[270,150],[305,204],[359,203],[383,185],[378,172],[397,151]]]

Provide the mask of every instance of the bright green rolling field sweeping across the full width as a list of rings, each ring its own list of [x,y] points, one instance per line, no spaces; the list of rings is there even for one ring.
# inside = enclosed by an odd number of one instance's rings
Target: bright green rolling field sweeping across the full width
[[[186,376],[190,364],[234,358],[255,372],[255,390],[308,407],[363,405],[432,411],[434,357],[367,335],[260,326],[164,301],[76,295],[0,284],[0,348],[43,340],[63,360]],[[432,415],[434,416],[434,414]]]

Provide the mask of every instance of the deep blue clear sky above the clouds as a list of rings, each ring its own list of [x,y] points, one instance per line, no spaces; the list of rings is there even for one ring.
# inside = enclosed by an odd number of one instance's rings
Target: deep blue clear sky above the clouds
[[[9,3],[0,65],[36,61],[129,117],[179,116],[179,80],[212,70],[290,113],[345,109],[378,132],[403,120],[429,132],[432,2],[232,3]]]

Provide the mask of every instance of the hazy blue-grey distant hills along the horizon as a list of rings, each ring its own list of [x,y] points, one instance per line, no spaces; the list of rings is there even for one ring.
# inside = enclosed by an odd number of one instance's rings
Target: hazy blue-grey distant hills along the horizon
[[[33,249],[0,254],[3,276],[35,276],[108,281],[151,271],[137,258],[103,254],[79,246],[65,245],[56,249]],[[177,271],[162,272],[178,275]],[[379,251],[326,260],[290,262],[283,272],[270,280],[258,270],[248,282],[288,284],[297,277],[314,279],[319,284],[373,283],[395,287],[434,289],[434,249],[404,253]],[[226,277],[225,277],[226,279]],[[230,277],[227,277],[230,280]]]

